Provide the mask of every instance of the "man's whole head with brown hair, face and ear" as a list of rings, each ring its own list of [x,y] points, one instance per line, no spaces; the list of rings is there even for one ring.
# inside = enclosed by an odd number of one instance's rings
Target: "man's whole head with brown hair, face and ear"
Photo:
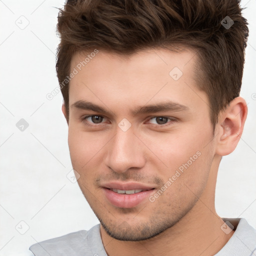
[[[238,1],[68,0],[57,29],[71,161],[105,231],[146,239],[214,199],[247,112]]]

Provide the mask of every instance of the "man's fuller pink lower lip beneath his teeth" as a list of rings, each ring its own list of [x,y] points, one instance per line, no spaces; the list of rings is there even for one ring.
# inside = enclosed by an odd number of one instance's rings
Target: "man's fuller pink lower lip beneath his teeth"
[[[132,208],[150,196],[154,189],[141,191],[134,194],[118,194],[103,187],[104,194],[108,201],[116,207]]]

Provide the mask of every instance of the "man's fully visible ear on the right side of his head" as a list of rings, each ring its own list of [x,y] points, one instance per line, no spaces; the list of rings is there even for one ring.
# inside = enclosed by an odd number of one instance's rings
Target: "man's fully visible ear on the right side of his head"
[[[227,155],[235,149],[242,134],[247,111],[246,102],[240,96],[234,98],[226,109],[221,111],[217,124],[216,154]]]

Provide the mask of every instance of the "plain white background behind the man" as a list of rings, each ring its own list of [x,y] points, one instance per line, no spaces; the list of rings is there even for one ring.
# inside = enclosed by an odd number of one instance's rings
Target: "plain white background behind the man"
[[[0,256],[30,255],[37,241],[98,223],[77,183],[66,177],[72,166],[62,95],[46,98],[58,86],[55,7],[63,4],[0,0]],[[256,1],[241,6],[250,30],[241,90],[249,113],[237,148],[221,161],[216,210],[256,228]],[[24,131],[16,127],[21,118],[29,124]]]

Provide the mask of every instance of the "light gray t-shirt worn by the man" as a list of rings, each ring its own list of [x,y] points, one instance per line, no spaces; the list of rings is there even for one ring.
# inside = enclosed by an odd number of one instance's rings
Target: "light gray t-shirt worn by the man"
[[[234,226],[234,233],[215,256],[256,256],[256,229],[244,218],[222,218]],[[102,244],[99,224],[35,243],[29,247],[35,256],[107,256]],[[254,253],[253,253],[254,252]]]

